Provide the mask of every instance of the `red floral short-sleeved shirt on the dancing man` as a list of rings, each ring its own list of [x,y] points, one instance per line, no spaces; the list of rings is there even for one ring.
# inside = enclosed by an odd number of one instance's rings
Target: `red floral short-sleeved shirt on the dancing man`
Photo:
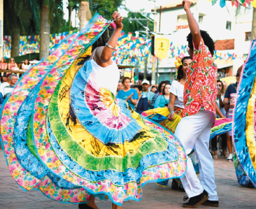
[[[213,56],[201,38],[198,50],[194,48],[193,60],[187,70],[183,92],[185,106],[182,117],[204,110],[210,110],[216,114],[217,72],[218,68]]]

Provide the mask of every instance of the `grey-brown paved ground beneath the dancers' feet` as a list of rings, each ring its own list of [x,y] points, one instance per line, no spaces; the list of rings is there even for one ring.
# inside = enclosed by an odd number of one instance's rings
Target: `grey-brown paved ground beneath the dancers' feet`
[[[238,185],[232,162],[219,156],[214,160],[215,181],[220,199],[220,208],[255,208],[256,189],[248,189]],[[170,184],[171,185],[171,184]],[[143,197],[139,202],[128,201],[124,209],[176,209],[182,208],[185,192],[162,188],[155,183],[143,187]],[[99,209],[111,208],[111,201],[97,201]],[[10,176],[3,150],[0,149],[0,208],[37,209],[37,208],[78,208],[77,205],[51,201],[38,191],[23,192]],[[199,206],[198,208],[211,208]]]

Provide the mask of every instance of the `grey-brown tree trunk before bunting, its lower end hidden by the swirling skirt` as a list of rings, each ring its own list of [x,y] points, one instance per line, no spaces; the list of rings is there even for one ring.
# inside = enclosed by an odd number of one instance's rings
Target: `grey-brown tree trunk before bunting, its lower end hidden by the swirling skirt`
[[[43,0],[40,22],[40,55],[39,59],[48,57],[50,49],[49,0]]]

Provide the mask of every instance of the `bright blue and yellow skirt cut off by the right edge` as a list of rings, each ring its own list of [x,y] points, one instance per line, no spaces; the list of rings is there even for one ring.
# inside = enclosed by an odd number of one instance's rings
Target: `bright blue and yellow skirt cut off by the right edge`
[[[243,64],[237,100],[234,108],[232,129],[233,144],[236,152],[236,173],[244,173],[256,187],[256,38]],[[239,177],[238,177],[239,178]],[[240,183],[240,182],[239,182]]]

